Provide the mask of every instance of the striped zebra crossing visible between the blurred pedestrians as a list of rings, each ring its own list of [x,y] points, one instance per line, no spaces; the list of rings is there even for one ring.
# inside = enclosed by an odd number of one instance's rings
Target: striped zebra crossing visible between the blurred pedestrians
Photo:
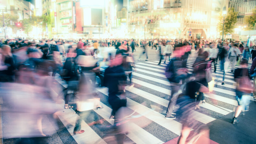
[[[192,64],[195,58],[188,59],[188,69],[192,72]],[[169,103],[171,94],[170,83],[165,77],[165,67],[167,64],[157,65],[158,61],[136,62],[132,73],[132,83],[134,87],[126,86],[127,107],[135,111],[136,115],[141,117],[129,125],[129,133],[125,140],[131,143],[164,143],[180,135],[181,123],[179,119],[165,119],[165,112]],[[220,65],[217,64],[215,76],[215,87],[212,93],[205,93],[206,103],[200,103],[201,108],[194,110],[194,118],[198,125],[208,124],[231,112],[238,105],[235,95],[235,81],[233,73],[227,72],[225,76],[225,85],[221,85],[222,72]],[[56,76],[55,80],[64,87],[67,85]],[[99,91],[100,105],[103,108],[94,110],[105,123],[113,125],[113,120],[109,119],[111,115],[111,106],[108,104],[108,88],[97,88]],[[251,100],[252,97],[251,97]],[[65,115],[59,116],[63,124],[68,127],[68,131],[77,143],[106,143],[106,134],[104,130],[96,126],[88,126],[87,121],[83,121],[82,129],[86,129],[85,134],[73,135],[75,119],[72,116],[78,116],[74,110],[64,110]],[[72,116],[71,116],[72,115]],[[230,118],[231,119],[231,118]],[[67,122],[68,121],[68,122]],[[70,126],[71,124],[71,126]],[[104,127],[104,126],[103,126]],[[86,135],[86,136],[85,136]],[[88,139],[87,139],[88,138]]]

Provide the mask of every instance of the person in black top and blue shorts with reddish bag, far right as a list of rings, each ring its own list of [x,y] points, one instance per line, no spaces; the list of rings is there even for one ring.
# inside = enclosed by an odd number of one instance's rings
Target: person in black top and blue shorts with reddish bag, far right
[[[248,60],[245,58],[242,58],[240,61],[240,67],[237,68],[234,72],[234,78],[237,82],[236,87],[236,99],[238,102],[238,106],[235,111],[235,115],[232,119],[232,124],[238,123],[237,117],[241,113],[241,111],[244,109],[244,107],[247,105],[245,95],[250,95],[252,92],[252,86],[250,83],[249,78],[249,71],[247,69]]]

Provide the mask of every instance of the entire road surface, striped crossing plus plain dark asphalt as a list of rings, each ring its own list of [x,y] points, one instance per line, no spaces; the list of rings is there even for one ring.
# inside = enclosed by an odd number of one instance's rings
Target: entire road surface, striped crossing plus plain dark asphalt
[[[102,51],[103,48],[100,50]],[[113,48],[104,48],[111,49]],[[145,61],[145,55],[138,61],[138,56],[142,48],[136,48],[134,52],[135,71],[132,73],[133,88],[126,87],[127,106],[129,110],[135,111],[126,134],[125,143],[176,143],[180,136],[181,123],[179,119],[165,119],[165,113],[169,103],[170,83],[166,79],[165,67],[168,64],[157,65],[159,56],[156,50],[147,48],[149,61]],[[99,54],[100,57],[101,53]],[[195,61],[196,54],[192,50],[187,67],[192,72],[192,64]],[[248,68],[250,68],[251,60]],[[105,69],[106,67],[102,67]],[[210,143],[255,143],[252,137],[256,126],[254,120],[256,105],[252,96],[250,97],[250,110],[241,114],[239,124],[232,125],[231,120],[234,109],[238,105],[235,94],[235,81],[232,72],[227,72],[225,76],[225,85],[221,85],[222,72],[220,65],[217,64],[217,71],[213,73],[215,77],[215,87],[212,93],[204,93],[205,103],[200,103],[200,109],[194,110],[195,119],[198,125],[206,124],[210,129]],[[67,84],[61,80],[59,75],[55,80],[60,89],[65,88]],[[63,109],[57,113],[57,121],[49,120],[49,116],[43,117],[44,126],[52,127],[55,133],[50,137],[41,138],[49,144],[61,143],[107,143],[106,137],[109,137],[109,126],[113,125],[111,116],[111,106],[108,103],[108,89],[106,87],[97,88],[100,97],[101,109],[94,109],[94,113],[101,119],[104,119],[102,125],[88,126],[90,121],[83,120],[81,129],[85,130],[82,134],[73,134],[76,118],[76,105],[73,101],[70,104],[73,109]],[[57,94],[57,93],[56,93]],[[138,117],[135,117],[138,116]],[[4,126],[4,122],[2,124]],[[43,129],[44,130],[44,129]],[[4,139],[3,143],[15,143],[18,138]]]

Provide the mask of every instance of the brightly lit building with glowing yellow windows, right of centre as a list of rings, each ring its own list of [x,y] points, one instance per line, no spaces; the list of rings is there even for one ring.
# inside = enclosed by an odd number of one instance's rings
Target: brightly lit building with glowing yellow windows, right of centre
[[[129,0],[130,37],[215,37],[221,3],[220,0]]]

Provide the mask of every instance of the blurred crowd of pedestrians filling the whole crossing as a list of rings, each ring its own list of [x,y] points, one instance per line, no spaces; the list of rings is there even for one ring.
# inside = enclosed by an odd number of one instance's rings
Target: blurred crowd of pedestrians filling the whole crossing
[[[93,117],[90,126],[103,123],[103,119],[91,112],[93,109],[104,108],[100,105],[96,87],[108,88],[108,102],[112,108],[110,118],[114,119],[115,126],[118,125],[120,122],[118,111],[127,104],[125,87],[134,86],[132,83],[132,72],[135,68],[133,53],[138,46],[143,49],[139,60],[144,54],[145,61],[149,60],[147,47],[156,48],[156,53],[160,56],[158,65],[161,65],[162,60],[164,64],[169,60],[165,75],[171,85],[171,94],[165,118],[180,117],[183,127],[178,143],[185,143],[190,129],[198,127],[194,124],[192,111],[200,109],[199,103],[205,103],[204,93],[211,92],[212,85],[209,83],[214,81],[211,75],[212,64],[213,72],[216,72],[216,65],[220,62],[220,69],[223,71],[222,85],[224,85],[225,73],[228,72],[228,66],[232,63],[231,72],[234,72],[237,82],[238,107],[230,122],[238,123],[237,117],[240,112],[246,110],[247,102],[244,100],[244,95],[252,93],[256,100],[256,47],[253,46],[253,50],[250,51],[248,47],[244,48],[243,44],[237,41],[224,41],[224,43],[219,41],[216,44],[215,40],[197,39],[142,39],[140,41],[136,39],[78,39],[77,41],[42,39],[36,43],[25,39],[2,39],[0,45],[0,82],[19,83],[24,87],[29,84],[47,88],[49,92],[40,94],[47,97],[47,100],[52,102],[51,105],[57,103],[59,98],[59,96],[53,97],[50,92],[54,87],[52,85],[56,83],[55,76],[60,75],[61,79],[67,83],[67,87],[62,90],[63,108],[76,108],[75,111],[80,116],[76,120],[74,134],[85,132],[81,129],[82,119]],[[112,46],[116,49],[114,55],[104,54],[103,62],[107,63],[104,72],[100,70],[101,61],[97,59],[100,46],[106,49]],[[195,49],[198,56],[192,65],[193,72],[190,73],[187,69],[187,60],[192,49]],[[252,59],[250,70],[247,69],[249,58]],[[235,69],[236,64],[240,65],[237,69]],[[250,85],[252,77],[253,87]],[[71,97],[76,97],[76,107],[69,105]],[[47,105],[43,105],[42,108],[44,106]],[[39,115],[53,114],[59,109],[52,107],[51,110],[38,113]],[[35,120],[40,119],[39,116]],[[207,128],[201,130],[207,130]],[[44,135],[40,128],[39,131]],[[120,135],[118,139],[120,140]]]

